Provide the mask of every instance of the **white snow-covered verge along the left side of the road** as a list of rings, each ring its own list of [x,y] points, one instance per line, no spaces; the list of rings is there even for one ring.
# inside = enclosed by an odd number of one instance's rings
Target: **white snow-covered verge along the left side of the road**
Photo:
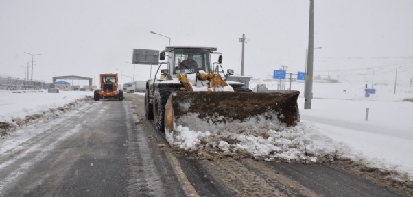
[[[90,99],[93,92],[60,91],[60,93],[40,92],[14,93],[0,90],[0,136],[12,135],[29,122],[51,120],[75,107],[79,99]]]

